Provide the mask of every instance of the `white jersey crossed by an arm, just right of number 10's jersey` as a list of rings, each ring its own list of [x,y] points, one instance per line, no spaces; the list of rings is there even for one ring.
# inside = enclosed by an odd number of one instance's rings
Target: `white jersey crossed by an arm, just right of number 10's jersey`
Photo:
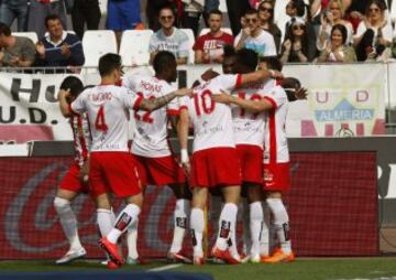
[[[275,86],[274,79],[252,83],[232,91],[242,99],[261,100]],[[239,106],[232,107],[232,127],[235,144],[252,144],[263,149],[264,112],[251,112]]]

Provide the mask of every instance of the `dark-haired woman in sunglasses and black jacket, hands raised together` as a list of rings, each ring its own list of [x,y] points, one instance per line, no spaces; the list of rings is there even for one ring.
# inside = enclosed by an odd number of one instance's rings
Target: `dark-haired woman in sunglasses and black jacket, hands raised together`
[[[317,50],[315,44],[309,44],[309,35],[304,19],[292,19],[280,53],[282,63],[307,63],[316,57]]]

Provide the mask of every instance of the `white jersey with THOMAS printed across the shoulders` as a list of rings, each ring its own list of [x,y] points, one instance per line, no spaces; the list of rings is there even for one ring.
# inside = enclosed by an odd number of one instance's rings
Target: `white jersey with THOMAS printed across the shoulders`
[[[166,80],[147,75],[129,76],[122,80],[122,85],[145,99],[157,98],[175,90]],[[133,154],[146,158],[170,155],[167,141],[168,115],[179,115],[179,103],[176,98],[155,111],[134,111]]]

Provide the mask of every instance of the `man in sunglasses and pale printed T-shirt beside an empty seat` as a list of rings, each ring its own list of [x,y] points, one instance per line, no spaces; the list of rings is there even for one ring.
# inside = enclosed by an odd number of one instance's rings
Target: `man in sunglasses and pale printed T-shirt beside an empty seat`
[[[169,51],[176,56],[177,64],[187,64],[189,54],[188,36],[174,26],[174,11],[168,7],[161,9],[158,20],[161,29],[152,35],[148,44],[150,63],[153,63],[154,56],[160,51]]]

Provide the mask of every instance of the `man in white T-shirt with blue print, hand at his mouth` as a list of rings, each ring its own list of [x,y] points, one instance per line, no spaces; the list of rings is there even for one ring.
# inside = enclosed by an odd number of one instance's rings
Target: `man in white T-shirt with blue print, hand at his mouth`
[[[250,49],[255,51],[258,56],[276,55],[274,36],[260,28],[257,11],[254,9],[248,10],[242,20],[244,26],[234,40],[235,49]]]

